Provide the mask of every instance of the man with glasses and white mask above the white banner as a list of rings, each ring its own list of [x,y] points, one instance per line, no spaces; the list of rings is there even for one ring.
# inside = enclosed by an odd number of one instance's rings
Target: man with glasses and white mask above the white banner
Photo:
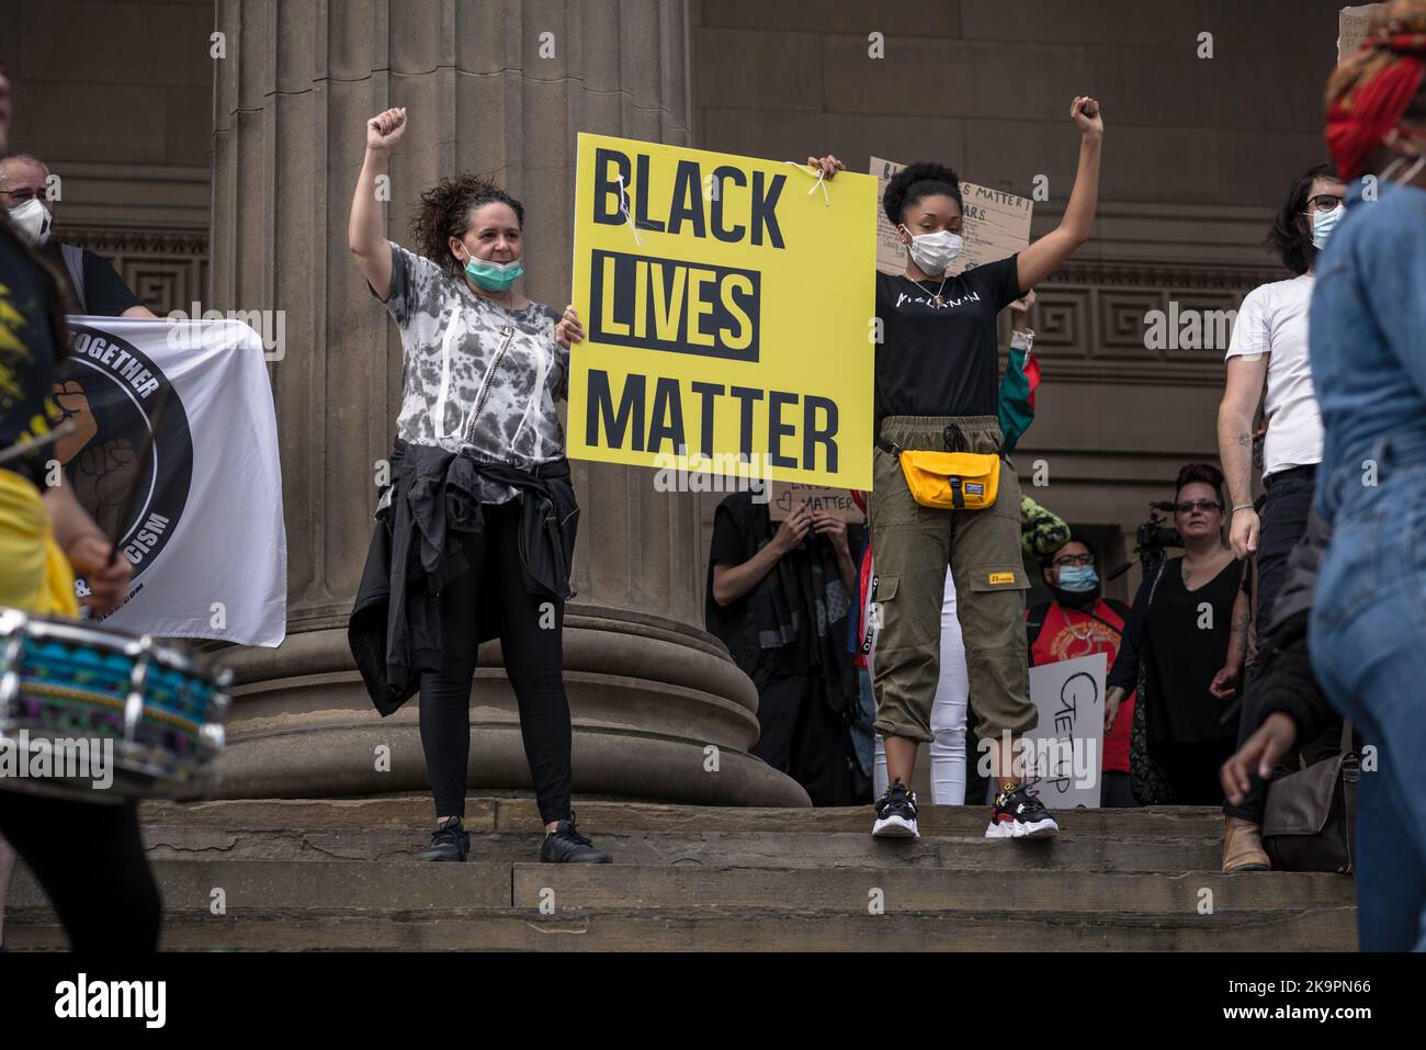
[[[70,291],[81,314],[157,317],[138,301],[108,260],[51,237],[54,201],[50,195],[50,168],[43,160],[24,153],[0,160],[0,205],[9,213],[16,233],[50,257],[70,278]]]

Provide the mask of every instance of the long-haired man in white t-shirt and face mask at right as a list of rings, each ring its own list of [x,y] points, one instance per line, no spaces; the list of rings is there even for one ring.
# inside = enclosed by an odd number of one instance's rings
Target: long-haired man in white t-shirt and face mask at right
[[[1313,264],[1328,235],[1346,214],[1346,185],[1330,164],[1316,164],[1298,177],[1278,213],[1268,243],[1295,277],[1253,288],[1243,298],[1228,347],[1228,381],[1218,408],[1218,455],[1231,498],[1229,544],[1239,558],[1256,555],[1255,622],[1266,635],[1272,606],[1288,572],[1288,555],[1308,528],[1308,512],[1322,461],[1322,417],[1308,361],[1308,308]],[[1252,421],[1263,404],[1262,449],[1266,502],[1253,509]],[[1243,710],[1239,739],[1258,728]],[[1269,866],[1262,847],[1262,780],[1238,806],[1225,806],[1224,870]]]

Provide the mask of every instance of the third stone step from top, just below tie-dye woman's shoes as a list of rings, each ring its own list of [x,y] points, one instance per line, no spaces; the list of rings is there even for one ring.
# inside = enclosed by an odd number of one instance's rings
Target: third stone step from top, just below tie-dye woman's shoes
[[[1002,843],[1015,849],[1017,843]],[[1350,907],[1346,876],[1219,872],[1102,873],[1084,870],[954,870],[940,867],[730,867],[640,865],[465,863],[384,860],[158,860],[154,875],[168,909],[207,909],[221,890],[225,907],[345,907],[451,910],[542,904],[573,909],[690,906],[867,912],[891,910],[1121,912],[1188,914]],[[1211,892],[1211,896],[1209,896]],[[14,907],[41,906],[29,872],[16,872]]]

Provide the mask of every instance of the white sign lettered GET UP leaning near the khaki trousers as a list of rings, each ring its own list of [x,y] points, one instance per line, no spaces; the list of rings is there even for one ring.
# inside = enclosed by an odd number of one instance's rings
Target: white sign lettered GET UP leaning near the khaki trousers
[[[1040,725],[1022,738],[1025,785],[1050,809],[1099,807],[1107,673],[1102,652],[1030,669]]]

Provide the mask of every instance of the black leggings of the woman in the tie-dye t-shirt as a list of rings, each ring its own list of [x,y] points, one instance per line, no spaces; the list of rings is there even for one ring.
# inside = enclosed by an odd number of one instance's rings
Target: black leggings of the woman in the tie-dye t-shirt
[[[505,673],[520,709],[525,760],[540,819],[569,819],[569,700],[565,698],[565,603],[532,595],[520,569],[520,499],[486,504],[485,529],[466,548],[471,569],[441,591],[441,671],[421,675],[421,745],[436,816],[465,816],[471,758],[471,681],[478,642],[476,593],[496,613]]]

